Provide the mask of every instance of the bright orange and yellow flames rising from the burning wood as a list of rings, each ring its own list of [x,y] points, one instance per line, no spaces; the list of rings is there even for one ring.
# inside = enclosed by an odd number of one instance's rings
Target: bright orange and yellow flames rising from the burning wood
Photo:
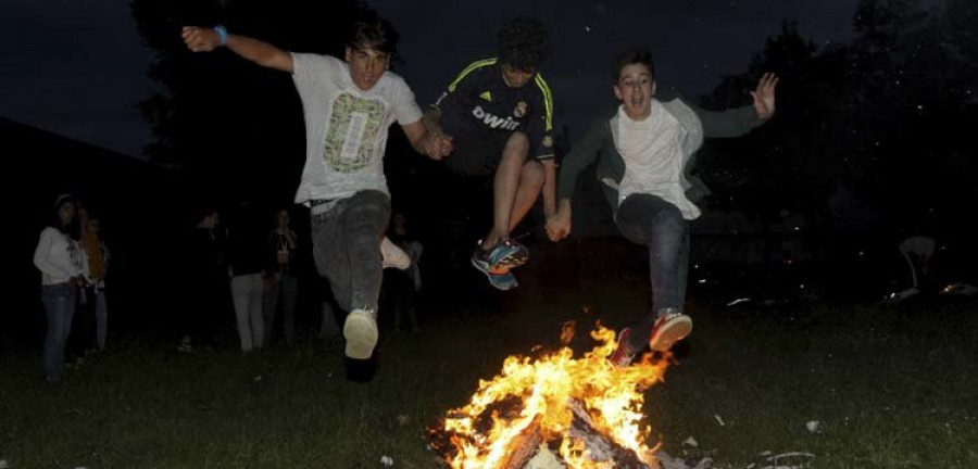
[[[566,333],[565,329],[564,344]],[[584,442],[570,436],[574,417],[568,403],[577,401],[595,430],[655,467],[657,447],[645,444],[651,428],[642,424],[643,392],[662,381],[667,363],[651,363],[647,355],[632,366],[617,368],[607,360],[615,351],[615,332],[599,327],[591,337],[599,344],[584,357],[574,358],[566,346],[537,359],[510,356],[499,376],[480,380],[469,403],[449,411],[443,428],[436,430],[451,435],[453,452],[446,456],[449,465],[455,469],[498,468],[506,461],[514,440],[539,421],[543,441],[560,442],[560,455],[568,467],[606,468],[607,461],[589,458]],[[491,428],[476,428],[487,409],[506,400],[519,401],[518,415],[490,410]]]

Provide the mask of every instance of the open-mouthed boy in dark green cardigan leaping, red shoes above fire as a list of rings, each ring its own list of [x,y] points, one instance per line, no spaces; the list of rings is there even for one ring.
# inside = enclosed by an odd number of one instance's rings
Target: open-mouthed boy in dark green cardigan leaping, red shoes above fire
[[[559,241],[570,232],[570,198],[577,177],[598,160],[598,180],[629,241],[648,246],[652,310],[618,335],[611,360],[628,366],[645,346],[667,351],[692,331],[682,313],[689,268],[689,220],[700,216],[693,203],[705,193],[688,176],[692,156],[705,137],[738,137],[775,113],[778,78],[764,74],[751,92],[753,105],[707,112],[679,99],[659,101],[655,66],[645,51],[618,56],[613,90],[620,105],[599,117],[564,159],[560,210],[548,218],[547,232]],[[692,182],[690,182],[690,179]]]

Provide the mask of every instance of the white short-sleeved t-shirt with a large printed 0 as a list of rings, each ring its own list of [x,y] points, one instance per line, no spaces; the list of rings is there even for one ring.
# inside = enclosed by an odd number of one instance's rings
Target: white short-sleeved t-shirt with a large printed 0
[[[292,53],[292,80],[305,115],[305,167],[296,203],[342,199],[362,190],[390,193],[384,177],[388,128],[416,123],[422,111],[404,79],[386,72],[369,90],[329,55]]]

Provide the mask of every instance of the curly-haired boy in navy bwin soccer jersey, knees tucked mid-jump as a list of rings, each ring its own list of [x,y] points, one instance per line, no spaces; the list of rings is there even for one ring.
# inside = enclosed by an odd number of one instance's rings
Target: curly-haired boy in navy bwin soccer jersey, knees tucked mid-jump
[[[452,173],[492,177],[493,224],[472,264],[500,290],[516,287],[510,270],[529,258],[510,231],[541,191],[544,213],[555,212],[553,98],[537,73],[549,54],[540,22],[510,21],[499,33],[499,56],[465,67],[425,113],[425,126],[451,152]]]

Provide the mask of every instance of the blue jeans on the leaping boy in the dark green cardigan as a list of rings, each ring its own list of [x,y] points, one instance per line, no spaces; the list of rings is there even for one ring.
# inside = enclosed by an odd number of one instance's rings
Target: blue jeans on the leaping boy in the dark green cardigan
[[[689,224],[676,205],[650,194],[632,194],[622,202],[615,224],[629,241],[649,248],[652,310],[631,334],[634,351],[649,341],[652,326],[666,308],[682,310],[689,271]]]

